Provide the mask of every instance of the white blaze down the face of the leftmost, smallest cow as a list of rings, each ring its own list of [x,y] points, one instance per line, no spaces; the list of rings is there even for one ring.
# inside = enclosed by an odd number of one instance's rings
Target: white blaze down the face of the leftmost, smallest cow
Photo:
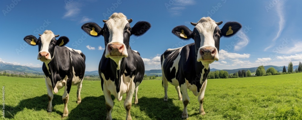
[[[54,36],[54,34],[51,30],[45,30],[44,31],[44,33],[40,36],[42,45],[41,45],[41,49],[40,49],[39,54],[42,53],[42,52],[50,54],[49,51],[48,51],[48,48],[49,48],[49,45],[50,45],[50,41],[51,41],[51,39],[53,39],[53,37],[55,37],[55,36]],[[37,58],[38,60],[40,59],[39,54],[38,54],[38,58]],[[52,56],[49,55],[47,60],[51,60],[51,57]]]

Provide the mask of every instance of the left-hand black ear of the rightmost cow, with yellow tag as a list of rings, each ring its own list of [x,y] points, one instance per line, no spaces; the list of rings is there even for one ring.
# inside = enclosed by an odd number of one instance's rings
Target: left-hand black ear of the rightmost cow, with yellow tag
[[[192,35],[193,32],[184,25],[174,27],[172,30],[172,33],[175,36],[178,36],[179,38],[184,39],[184,40],[193,38],[193,35]]]

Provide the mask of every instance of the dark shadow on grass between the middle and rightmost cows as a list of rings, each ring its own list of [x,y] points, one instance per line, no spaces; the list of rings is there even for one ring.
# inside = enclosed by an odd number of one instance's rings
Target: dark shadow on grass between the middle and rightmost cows
[[[164,101],[164,98],[141,97],[138,99],[139,103],[136,106],[139,106],[140,111],[145,112],[151,119],[181,119],[182,110],[180,110],[180,107],[175,106],[174,100],[178,99]]]

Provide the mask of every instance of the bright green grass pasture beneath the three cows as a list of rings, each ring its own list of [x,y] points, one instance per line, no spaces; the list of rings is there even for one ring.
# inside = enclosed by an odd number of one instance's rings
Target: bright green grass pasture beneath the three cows
[[[302,73],[209,79],[204,98],[206,114],[198,115],[197,97],[189,91],[189,119],[302,119],[301,76]],[[134,105],[134,98],[132,102],[133,119],[181,119],[183,104],[178,100],[175,87],[169,84],[168,101],[164,102],[161,83],[161,80],[142,82],[138,92],[139,103]],[[5,86],[5,119],[61,119],[63,90],[54,94],[53,112],[48,113],[44,79],[1,76],[0,85]],[[83,82],[82,103],[79,105],[76,103],[76,86],[72,86],[69,95],[69,117],[63,120],[106,118],[101,81]],[[125,98],[124,95],[120,102],[114,99],[113,119],[126,118]]]

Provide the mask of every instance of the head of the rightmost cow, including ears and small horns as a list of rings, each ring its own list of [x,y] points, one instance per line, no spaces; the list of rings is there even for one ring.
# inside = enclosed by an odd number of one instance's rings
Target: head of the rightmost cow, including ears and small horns
[[[218,25],[221,22],[215,22],[210,17],[203,17],[197,23],[192,23],[194,30],[191,31],[186,26],[177,26],[172,33],[181,39],[194,39],[195,54],[197,54],[197,62],[210,64],[215,60],[218,61],[220,37],[230,37],[236,34],[242,27],[238,22],[227,22],[222,29]]]

